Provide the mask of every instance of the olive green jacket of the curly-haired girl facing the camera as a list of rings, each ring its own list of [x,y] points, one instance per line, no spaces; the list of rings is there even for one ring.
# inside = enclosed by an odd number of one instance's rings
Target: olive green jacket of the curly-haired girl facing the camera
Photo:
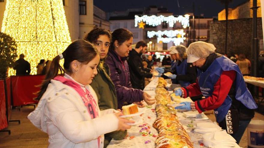
[[[100,110],[117,109],[116,88],[110,79],[110,69],[102,60],[97,67],[98,74],[90,84],[95,90],[98,97],[98,104]],[[127,135],[127,131],[114,131],[105,134],[104,147],[110,143],[111,139],[122,140]]]

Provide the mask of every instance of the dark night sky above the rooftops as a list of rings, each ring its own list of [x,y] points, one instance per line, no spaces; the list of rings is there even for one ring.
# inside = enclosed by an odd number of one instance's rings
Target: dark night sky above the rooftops
[[[224,4],[217,0],[94,0],[94,5],[105,12],[126,11],[130,8],[144,8],[149,5],[156,5],[158,7],[166,7],[174,15],[182,15],[188,12],[192,13],[193,1],[195,14],[198,14],[198,7],[200,7],[200,13],[203,13],[206,17],[217,16],[217,13],[224,9]],[[247,0],[233,0],[229,7],[235,7],[244,1]]]

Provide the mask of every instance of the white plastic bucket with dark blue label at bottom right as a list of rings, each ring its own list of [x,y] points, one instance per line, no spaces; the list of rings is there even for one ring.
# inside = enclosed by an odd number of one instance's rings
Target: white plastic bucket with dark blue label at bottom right
[[[247,126],[248,148],[264,148],[264,120],[251,120]]]

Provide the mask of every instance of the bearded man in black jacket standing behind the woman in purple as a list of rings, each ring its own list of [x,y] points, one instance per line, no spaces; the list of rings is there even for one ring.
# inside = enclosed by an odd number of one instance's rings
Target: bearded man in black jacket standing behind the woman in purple
[[[147,44],[145,41],[139,41],[136,44],[136,48],[132,49],[129,53],[128,65],[130,71],[130,78],[132,87],[134,89],[143,90],[145,87],[144,78],[151,78],[152,74],[150,72],[144,71],[141,54],[146,51]]]

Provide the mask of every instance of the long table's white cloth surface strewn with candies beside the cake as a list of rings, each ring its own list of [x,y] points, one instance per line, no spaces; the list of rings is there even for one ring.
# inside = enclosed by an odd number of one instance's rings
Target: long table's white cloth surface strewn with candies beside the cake
[[[156,77],[154,80],[152,80],[145,87],[144,91],[147,92],[152,97],[155,97],[155,89],[156,89],[157,85],[158,85],[158,77]],[[157,136],[158,135],[157,130],[154,127],[152,127],[152,124],[156,120],[155,106],[156,106],[156,104],[153,104],[152,106],[146,106],[145,107],[146,112],[142,115],[142,117],[143,117],[143,123],[147,124],[144,127],[149,126],[150,127],[149,131],[153,135]],[[147,108],[147,107],[149,107],[149,108]],[[202,134],[194,133],[192,130],[195,128],[195,125],[198,122],[212,122],[212,121],[211,120],[199,120],[199,119],[198,120],[195,120],[195,119],[192,120],[192,119],[184,118],[183,113],[181,113],[181,112],[177,112],[177,116],[178,116],[178,119],[180,120],[180,122],[182,123],[184,129],[189,134],[189,136],[191,138],[191,141],[193,142],[194,147],[195,148],[205,148],[201,144],[202,143]],[[124,140],[119,140],[118,141],[118,140],[113,140],[112,139],[107,148],[120,148],[120,147],[155,148],[156,147],[156,145],[155,145],[155,141],[156,141],[155,136],[153,137],[153,136],[150,136],[149,134],[146,135],[146,136],[143,136],[140,133],[140,130],[143,127],[139,127],[139,126],[142,126],[143,123],[138,124],[136,126],[132,126],[131,129],[128,129],[128,137],[125,138]],[[187,125],[193,125],[194,127],[188,127]],[[146,131],[146,130],[143,130],[143,132],[144,131]],[[134,136],[134,138],[133,138],[133,136]],[[131,139],[131,138],[133,138],[133,139]]]

